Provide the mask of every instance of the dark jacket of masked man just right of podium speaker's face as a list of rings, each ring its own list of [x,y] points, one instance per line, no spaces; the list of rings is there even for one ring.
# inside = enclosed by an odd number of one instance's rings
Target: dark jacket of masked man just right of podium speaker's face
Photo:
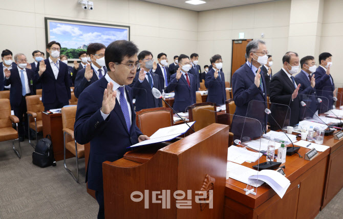
[[[151,76],[154,81],[154,87],[161,90],[160,87],[160,80],[157,74],[151,73]],[[139,72],[136,73],[136,77],[132,82],[134,85],[132,86],[134,98],[136,98],[135,102],[135,111],[138,112],[141,109],[146,108],[156,108],[162,107],[162,99],[156,99],[152,93],[152,88],[149,85],[149,82],[144,78],[143,82],[139,82]]]

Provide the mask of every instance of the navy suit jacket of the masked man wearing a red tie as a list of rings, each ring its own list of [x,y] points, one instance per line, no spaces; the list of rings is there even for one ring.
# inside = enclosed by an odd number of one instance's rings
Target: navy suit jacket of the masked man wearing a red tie
[[[175,92],[175,100],[173,108],[176,112],[186,112],[188,109],[187,107],[196,103],[196,79],[194,75],[189,74],[189,83],[185,79],[185,77],[181,76],[179,81],[176,80],[176,74],[170,76],[170,83],[168,84],[168,91]]]

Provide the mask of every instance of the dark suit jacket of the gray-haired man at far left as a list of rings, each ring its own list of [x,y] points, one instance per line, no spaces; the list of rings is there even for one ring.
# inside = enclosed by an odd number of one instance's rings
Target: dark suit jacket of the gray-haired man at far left
[[[28,77],[30,95],[34,95],[33,83],[31,85],[31,82],[30,82],[31,80],[33,81],[34,72],[31,69],[25,69],[25,70]],[[8,86],[11,84],[10,103],[11,103],[11,106],[16,107],[20,105],[20,102],[22,102],[23,85],[22,85],[22,80],[20,80],[18,68],[17,67],[12,68],[10,72],[11,72],[11,76],[9,77],[9,79],[5,78],[5,86]]]

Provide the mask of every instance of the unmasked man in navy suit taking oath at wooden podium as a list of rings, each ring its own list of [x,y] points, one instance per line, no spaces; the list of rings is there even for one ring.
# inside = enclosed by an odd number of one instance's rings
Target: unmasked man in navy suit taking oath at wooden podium
[[[91,142],[86,181],[88,188],[96,191],[98,218],[104,218],[102,163],[122,158],[127,147],[149,139],[136,126],[132,89],[127,86],[139,67],[137,52],[131,41],[112,42],[105,51],[108,74],[88,86],[78,99],[75,139],[80,144]]]

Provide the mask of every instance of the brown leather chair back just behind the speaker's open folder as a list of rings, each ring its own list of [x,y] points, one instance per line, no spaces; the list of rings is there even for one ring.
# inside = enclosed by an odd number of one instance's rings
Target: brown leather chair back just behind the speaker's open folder
[[[148,108],[136,112],[136,125],[144,135],[152,136],[158,129],[174,124],[173,109]]]

